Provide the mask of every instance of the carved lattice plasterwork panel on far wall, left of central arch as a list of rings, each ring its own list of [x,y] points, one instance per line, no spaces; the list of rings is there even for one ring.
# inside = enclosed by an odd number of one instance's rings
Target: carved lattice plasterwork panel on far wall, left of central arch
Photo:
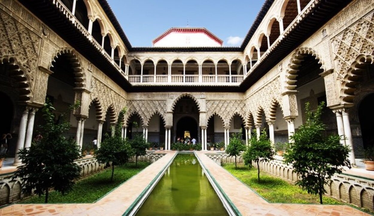
[[[151,117],[159,114],[165,124],[166,100],[129,100],[127,102],[127,114],[125,124],[133,114],[139,115],[142,126],[147,127]]]

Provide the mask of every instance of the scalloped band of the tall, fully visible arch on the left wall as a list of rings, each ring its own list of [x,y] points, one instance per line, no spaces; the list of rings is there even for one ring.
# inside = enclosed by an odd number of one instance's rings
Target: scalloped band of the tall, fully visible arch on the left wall
[[[81,61],[78,59],[75,51],[71,48],[65,47],[53,55],[52,59],[50,60],[49,69],[53,68],[53,63],[59,58],[59,56],[65,55],[67,59],[70,61],[73,70],[74,70],[74,84],[78,88],[85,88],[86,87],[86,74],[82,70]]]

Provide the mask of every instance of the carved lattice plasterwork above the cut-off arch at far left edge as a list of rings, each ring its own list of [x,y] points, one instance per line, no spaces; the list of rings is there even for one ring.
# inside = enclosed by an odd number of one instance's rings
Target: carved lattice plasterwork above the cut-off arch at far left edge
[[[27,87],[22,87],[27,95],[26,101],[31,101],[33,97],[41,42],[42,38],[0,10],[0,58],[1,61],[5,58],[12,64],[18,64],[19,71],[23,72],[17,77],[26,83]]]

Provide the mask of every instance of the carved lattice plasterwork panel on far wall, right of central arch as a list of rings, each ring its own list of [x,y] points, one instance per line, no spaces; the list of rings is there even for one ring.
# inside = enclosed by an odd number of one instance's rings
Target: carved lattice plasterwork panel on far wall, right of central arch
[[[224,127],[230,127],[230,121],[234,115],[242,119],[246,117],[246,104],[244,100],[206,100],[207,119],[212,115],[218,115],[223,120]]]

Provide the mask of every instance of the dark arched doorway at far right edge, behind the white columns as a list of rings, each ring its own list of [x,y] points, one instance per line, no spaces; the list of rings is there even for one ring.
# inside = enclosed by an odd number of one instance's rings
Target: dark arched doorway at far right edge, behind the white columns
[[[358,108],[362,141],[365,149],[374,145],[374,115],[372,114],[373,101],[374,93],[371,93],[361,101]]]

